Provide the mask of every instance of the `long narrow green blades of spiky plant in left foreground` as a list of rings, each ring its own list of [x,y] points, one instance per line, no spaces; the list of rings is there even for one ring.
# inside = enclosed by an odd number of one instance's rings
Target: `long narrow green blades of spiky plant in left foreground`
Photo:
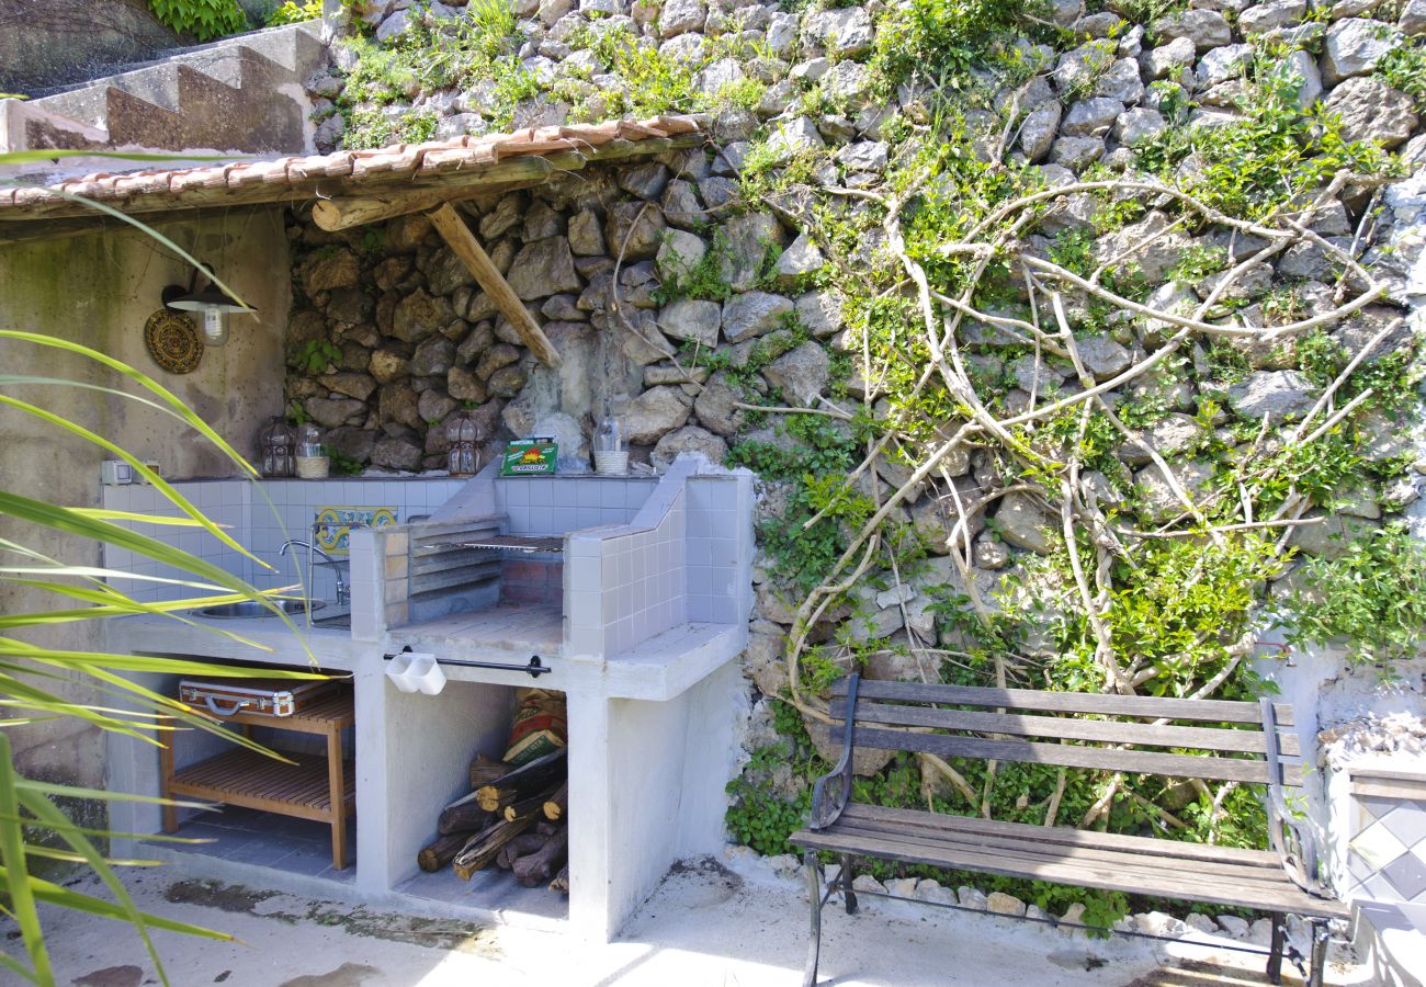
[[[94,364],[100,377],[111,374],[134,388],[130,391],[110,384],[68,382],[7,372],[0,375],[0,405],[33,419],[37,426],[58,429],[70,441],[94,445],[106,455],[114,455],[128,462],[135,474],[144,482],[151,484],[158,495],[174,508],[171,518],[144,516],[143,521],[207,532],[254,565],[268,568],[265,562],[252,556],[231,535],[205,518],[178,489],[138,456],[68,416],[19,397],[17,392],[33,389],[36,385],[50,388],[97,387],[114,399],[143,402],[148,408],[165,412],[177,425],[197,432],[201,441],[211,444],[225,455],[241,471],[241,475],[255,476],[252,466],[244,462],[175,395],[145,374],[77,342],[17,329],[0,329],[0,344],[4,344],[10,352],[11,359],[7,364],[11,367],[23,359],[26,351],[60,351]],[[0,516],[4,518],[9,532],[7,539],[0,543],[0,582],[26,592],[29,596],[24,599],[44,602],[33,609],[24,605],[11,606],[0,618],[0,626],[4,630],[4,636],[0,636],[0,695],[4,697],[3,702],[10,716],[6,720],[7,725],[19,726],[33,719],[53,719],[56,716],[74,717],[91,727],[125,735],[157,746],[163,743],[164,732],[168,729],[163,725],[173,722],[181,727],[212,732],[261,750],[252,742],[214,726],[207,716],[198,716],[183,703],[154,693],[127,677],[131,673],[144,672],[241,677],[248,675],[245,669],[144,655],[110,655],[73,648],[48,648],[27,640],[27,638],[34,630],[56,623],[123,615],[178,615],[193,608],[240,600],[264,602],[291,626],[289,618],[282,615],[281,608],[271,599],[271,593],[252,588],[205,559],[134,531],[124,522],[137,518],[124,512],[63,506],[4,489],[0,491]],[[73,553],[80,559],[86,559],[97,545],[133,552],[135,556],[185,573],[180,578],[180,585],[198,595],[168,602],[140,602],[110,585],[107,579],[124,576],[143,581],[145,576],[110,571],[87,561],[67,562],[53,549],[40,552],[29,548],[26,542],[31,538],[58,539],[66,555]],[[321,677],[301,672],[278,672],[277,675],[281,677]],[[108,696],[108,700],[80,702],[73,697],[71,690],[54,685],[57,679],[70,677],[86,680],[100,695]],[[118,697],[123,702],[116,702]],[[135,712],[127,713],[116,709],[116,706],[125,703]],[[9,732],[0,730],[0,866],[3,866],[0,887],[4,891],[7,911],[24,944],[26,957],[21,961],[0,954],[0,966],[30,983],[54,983],[39,904],[76,909],[127,921],[143,940],[165,984],[168,980],[150,939],[150,930],[178,931],[218,940],[231,939],[224,933],[140,911],[114,871],[120,861],[107,859],[101,849],[107,834],[76,826],[56,804],[57,800],[67,799],[158,802],[120,792],[30,780],[16,770]],[[60,849],[41,843],[44,834],[58,840]],[[113,900],[98,899],[39,877],[33,870],[33,863],[43,860],[61,860],[88,867],[106,886]],[[123,863],[145,866],[154,861]]]

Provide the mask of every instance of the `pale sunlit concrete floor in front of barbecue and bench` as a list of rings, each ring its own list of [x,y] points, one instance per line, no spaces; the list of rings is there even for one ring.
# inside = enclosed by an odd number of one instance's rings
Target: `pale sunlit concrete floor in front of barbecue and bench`
[[[794,987],[807,943],[803,886],[739,852],[676,867],[623,939],[597,947],[552,933],[391,916],[153,870],[133,877],[130,887],[140,907],[241,940],[157,933],[175,987]],[[121,926],[58,911],[46,920],[57,983],[157,983],[141,946]],[[19,951],[14,939],[0,941]],[[1369,983],[1362,967],[1342,961],[1332,964],[1328,981]],[[827,909],[820,983],[1209,987],[1265,978],[1258,957],[1222,948],[1089,940],[1000,917],[871,901],[858,916]],[[1301,983],[1291,967],[1283,983]]]

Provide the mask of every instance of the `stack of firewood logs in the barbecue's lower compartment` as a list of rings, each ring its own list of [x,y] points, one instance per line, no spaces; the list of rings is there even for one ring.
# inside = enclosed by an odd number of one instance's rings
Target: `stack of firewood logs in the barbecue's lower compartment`
[[[519,767],[471,763],[471,793],[441,812],[439,837],[416,854],[422,870],[451,866],[462,880],[495,864],[525,887],[569,894],[568,762],[559,749]]]

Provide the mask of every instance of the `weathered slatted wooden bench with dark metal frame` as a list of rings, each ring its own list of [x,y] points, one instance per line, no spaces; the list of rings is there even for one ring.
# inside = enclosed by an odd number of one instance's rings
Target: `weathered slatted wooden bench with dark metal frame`
[[[1312,927],[1308,983],[1320,987],[1328,920],[1346,917],[1348,907],[1318,883],[1312,833],[1283,802],[1285,786],[1302,784],[1301,764],[1285,760],[1299,755],[1296,733],[1288,729],[1291,706],[863,682],[853,675],[833,687],[831,716],[841,760],[817,779],[810,824],[791,836],[804,847],[811,889],[806,987],[817,980],[827,900],[841,891],[847,913],[857,910],[851,887],[857,857],[1268,911],[1268,978],[1275,984],[1281,983],[1285,919],[1302,916]],[[1261,784],[1268,793],[1272,849],[856,804],[848,799],[858,747]],[[841,871],[826,893],[819,853],[841,857]]]

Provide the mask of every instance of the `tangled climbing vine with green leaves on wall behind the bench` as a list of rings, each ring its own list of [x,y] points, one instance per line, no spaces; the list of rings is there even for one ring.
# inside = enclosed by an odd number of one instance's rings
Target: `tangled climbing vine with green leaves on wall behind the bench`
[[[887,165],[857,183],[844,144],[790,144],[783,124],[861,128],[868,107],[789,71],[796,53],[771,57],[736,30],[674,58],[589,17],[560,37],[583,68],[555,78],[519,63],[520,26],[505,7],[419,19],[385,46],[352,40],[356,67],[338,101],[349,147],[429,135],[438,121],[418,94],[456,87],[483,94],[492,128],[545,100],[575,120],[709,111],[736,131],[724,144],[737,145],[739,195],[710,210],[699,227],[707,252],[670,265],[680,274],[665,278],[659,304],[734,294],[720,224],[739,213],[771,208],[826,255],[779,282],[769,244],[757,288],[834,292],[844,332],[814,337],[787,315],[756,344],[679,357],[742,399],[729,462],[757,471],[776,505],[759,529],[761,593],[793,612],[776,622],[787,663],[779,739],[730,786],[730,829],[754,849],[786,852],[806,779],[827,767],[813,740],[820,695],[848,669],[1246,699],[1266,689],[1246,659],[1273,619],[1299,642],[1343,639],[1362,660],[1415,653],[1426,556],[1393,521],[1410,462],[1372,446],[1420,404],[1416,344],[1393,331],[1399,314],[1355,247],[1313,232],[1332,213],[1369,237],[1400,161],[1348,137],[1320,106],[1299,106],[1302,80],[1282,68],[1295,50],[1263,40],[1251,41],[1231,113],[1214,126],[1195,118],[1188,88],[1159,80],[1147,104],[1164,127],[1112,163],[1051,180],[1011,153],[1025,124],[1015,100],[1057,56],[1082,54],[1082,77],[1060,98],[1085,98],[1122,33],[1185,6],[1091,4],[1124,21],[1087,39],[1038,3],[887,4],[876,41],[848,56],[886,110],[874,128]],[[813,13],[783,6],[799,7]],[[1402,47],[1378,76],[1420,100],[1420,57]],[[766,71],[714,84],[704,70],[722,60]],[[786,107],[754,116],[774,88]],[[1165,238],[1175,255],[1149,275],[1139,251]],[[1323,255],[1310,277],[1275,270],[1303,244]],[[764,369],[809,342],[827,349],[830,384],[811,408],[789,409]],[[1121,361],[1112,371],[1094,362],[1105,352]],[[1245,388],[1263,372],[1292,374],[1309,399],[1253,412]],[[1333,521],[1360,501],[1386,523]],[[925,523],[930,502],[938,528]],[[1332,525],[1336,538],[1303,562],[1305,533]],[[928,600],[924,619],[904,612],[896,632],[868,632],[886,609],[877,596],[904,603],[908,588]],[[858,784],[858,797],[884,804],[1263,840],[1256,796],[1233,784],[911,756]],[[1048,907],[1062,894],[1082,896],[1044,886],[1030,897]],[[1105,914],[1124,906],[1089,899]]]

